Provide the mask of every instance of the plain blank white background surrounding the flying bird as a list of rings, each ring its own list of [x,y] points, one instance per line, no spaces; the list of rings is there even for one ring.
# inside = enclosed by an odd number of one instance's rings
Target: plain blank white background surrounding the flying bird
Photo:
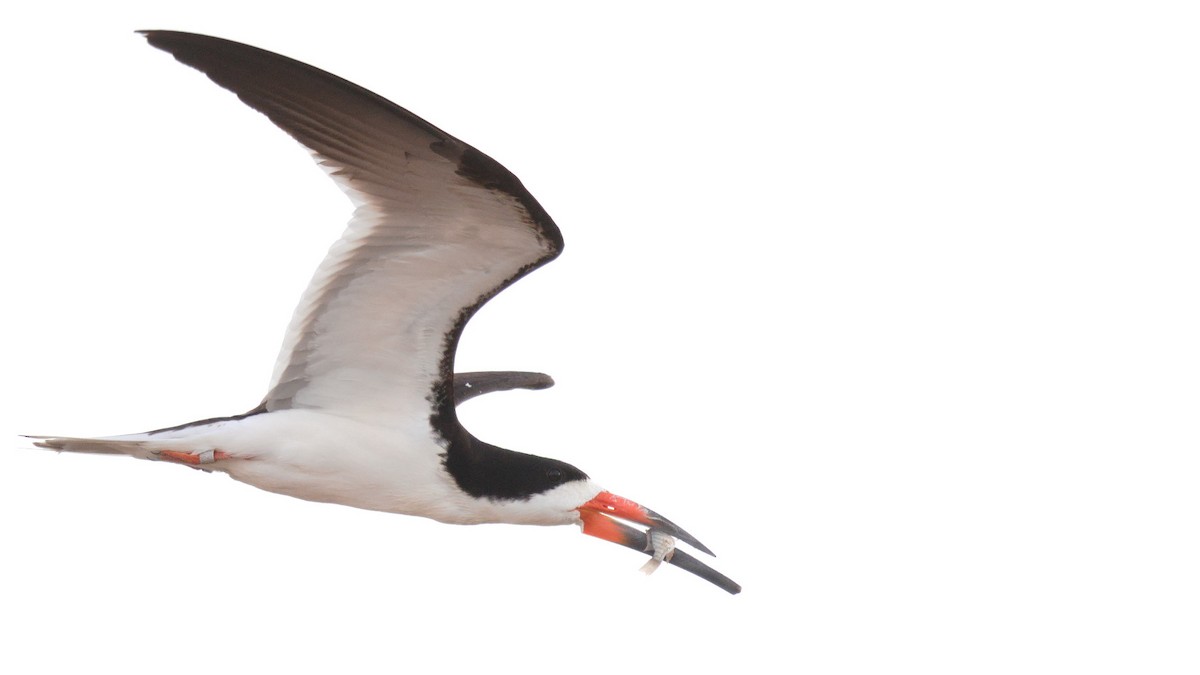
[[[0,671],[1200,669],[1190,4],[29,5],[0,20]],[[143,28],[314,64],[520,175],[566,251],[460,370],[558,386],[467,424],[745,591],[18,438],[254,406],[349,215]]]

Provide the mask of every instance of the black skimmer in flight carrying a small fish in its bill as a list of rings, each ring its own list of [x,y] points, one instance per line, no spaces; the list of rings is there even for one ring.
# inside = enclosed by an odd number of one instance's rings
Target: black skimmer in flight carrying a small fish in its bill
[[[354,203],[292,318],[257,407],[144,434],[37,436],[55,450],[222,471],[257,488],[443,522],[582,526],[737,593],[695,537],[578,468],[488,444],[455,406],[545,388],[535,372],[455,374],[458,338],[493,295],[554,259],[563,238],[496,160],[342,78],[203,35],[143,31],[307,148]],[[634,522],[646,531],[632,527]]]

